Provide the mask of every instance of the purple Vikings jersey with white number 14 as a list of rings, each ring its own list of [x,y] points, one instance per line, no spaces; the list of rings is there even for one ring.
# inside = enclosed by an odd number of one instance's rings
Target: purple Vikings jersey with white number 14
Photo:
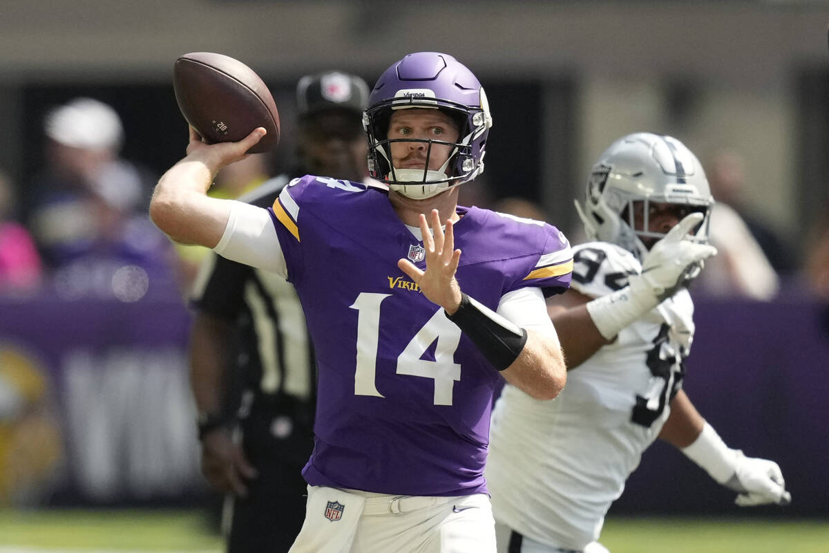
[[[458,213],[457,279],[488,308],[512,290],[570,285],[569,245],[555,227],[475,207]],[[424,269],[424,250],[387,193],[307,176],[284,188],[271,215],[317,354],[308,483],[486,492],[492,390],[502,377],[397,267],[408,258]]]

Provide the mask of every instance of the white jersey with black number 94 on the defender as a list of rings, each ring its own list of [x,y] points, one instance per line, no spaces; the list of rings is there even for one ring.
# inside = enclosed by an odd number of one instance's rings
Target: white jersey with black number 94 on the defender
[[[572,288],[598,298],[642,267],[604,242],[574,247]],[[506,386],[492,413],[487,485],[497,521],[580,551],[599,537],[642,452],[667,420],[694,333],[687,290],[619,332],[567,374],[552,401]]]

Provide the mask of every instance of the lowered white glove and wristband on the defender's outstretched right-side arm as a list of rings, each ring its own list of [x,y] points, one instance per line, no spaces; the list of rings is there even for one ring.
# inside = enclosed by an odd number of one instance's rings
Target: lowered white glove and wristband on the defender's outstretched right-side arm
[[[739,449],[730,449],[707,422],[694,443],[683,448],[682,453],[718,483],[738,492],[734,502],[740,507],[792,502],[778,463],[746,457]]]

